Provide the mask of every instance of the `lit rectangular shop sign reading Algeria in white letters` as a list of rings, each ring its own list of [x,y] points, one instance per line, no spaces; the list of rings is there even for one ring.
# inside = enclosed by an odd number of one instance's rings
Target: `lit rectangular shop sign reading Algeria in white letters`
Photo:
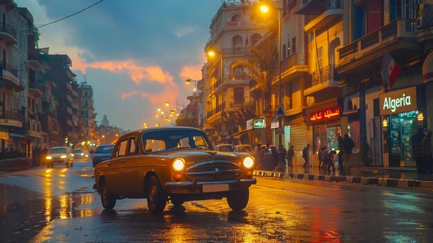
[[[416,107],[416,87],[380,93],[380,116],[414,111]]]

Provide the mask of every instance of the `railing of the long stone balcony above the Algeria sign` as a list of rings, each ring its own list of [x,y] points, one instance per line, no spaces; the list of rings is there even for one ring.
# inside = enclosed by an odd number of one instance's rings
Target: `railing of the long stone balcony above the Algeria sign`
[[[340,51],[340,64],[351,62],[353,58],[376,51],[377,48],[391,42],[398,42],[398,38],[415,38],[416,19],[399,18],[360,39],[343,46]],[[352,58],[353,57],[353,58]]]

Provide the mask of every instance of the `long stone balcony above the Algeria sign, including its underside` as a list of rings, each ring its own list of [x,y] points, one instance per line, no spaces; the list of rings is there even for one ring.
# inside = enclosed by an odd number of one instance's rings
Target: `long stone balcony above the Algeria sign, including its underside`
[[[338,73],[362,73],[377,69],[387,52],[398,61],[422,53],[416,39],[416,19],[399,18],[339,50]]]

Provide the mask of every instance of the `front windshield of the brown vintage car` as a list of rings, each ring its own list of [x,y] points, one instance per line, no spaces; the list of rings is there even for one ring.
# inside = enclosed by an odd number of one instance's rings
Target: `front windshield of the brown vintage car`
[[[175,149],[212,150],[212,145],[203,132],[186,129],[147,132],[142,135],[142,142],[145,152]]]

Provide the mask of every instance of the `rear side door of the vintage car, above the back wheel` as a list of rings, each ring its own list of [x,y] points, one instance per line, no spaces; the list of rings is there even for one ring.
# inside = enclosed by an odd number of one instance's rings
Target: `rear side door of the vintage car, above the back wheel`
[[[127,138],[118,141],[116,147],[114,147],[113,158],[106,161],[107,170],[105,170],[105,175],[107,183],[111,192],[116,195],[125,195],[125,188],[128,186],[120,174],[120,167],[125,163],[127,154],[127,142]]]

